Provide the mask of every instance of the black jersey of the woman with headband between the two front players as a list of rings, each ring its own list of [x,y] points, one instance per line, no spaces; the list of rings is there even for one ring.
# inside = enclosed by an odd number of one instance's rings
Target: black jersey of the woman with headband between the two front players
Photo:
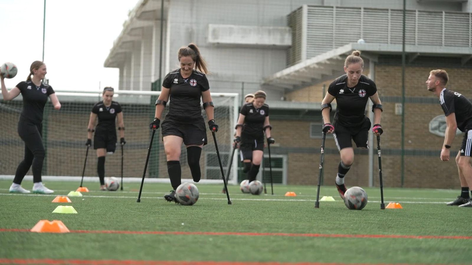
[[[243,133],[253,136],[261,136],[264,134],[265,117],[269,116],[269,105],[264,104],[261,108],[254,108],[253,103],[246,103],[239,111],[244,115]]]

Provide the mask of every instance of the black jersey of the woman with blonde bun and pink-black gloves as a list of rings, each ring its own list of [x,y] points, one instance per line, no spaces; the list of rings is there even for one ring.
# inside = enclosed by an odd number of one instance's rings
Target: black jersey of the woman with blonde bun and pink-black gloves
[[[328,88],[328,93],[336,97],[335,122],[347,127],[361,125],[365,120],[367,101],[376,92],[377,86],[365,75],[361,75],[357,85],[352,88],[347,86],[347,75],[339,76]]]

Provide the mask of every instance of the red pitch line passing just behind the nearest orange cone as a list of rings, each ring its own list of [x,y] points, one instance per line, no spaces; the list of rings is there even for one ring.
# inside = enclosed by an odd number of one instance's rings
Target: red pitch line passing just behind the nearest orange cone
[[[28,229],[4,229],[0,232],[29,232]],[[472,239],[472,236],[415,236],[415,235],[362,235],[362,234],[315,234],[315,233],[255,233],[255,232],[180,232],[180,231],[118,231],[118,230],[70,230],[86,234],[151,234],[151,235],[211,235],[211,236],[283,236],[323,238],[404,238],[404,239]]]

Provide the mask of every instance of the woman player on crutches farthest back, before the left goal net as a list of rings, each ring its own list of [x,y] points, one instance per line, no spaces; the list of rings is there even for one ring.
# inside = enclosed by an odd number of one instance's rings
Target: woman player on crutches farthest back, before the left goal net
[[[93,105],[90,113],[89,124],[87,127],[87,142],[85,145],[92,145],[93,149],[97,150],[97,173],[100,179],[100,190],[105,188],[105,156],[106,153],[113,154],[117,144],[117,131],[115,119],[118,117],[118,131],[120,134],[120,144],[124,145],[125,141],[125,124],[123,121],[123,111],[118,102],[112,101],[114,89],[112,87],[105,87],[103,89],[103,100]],[[95,119],[98,117],[98,124],[95,129]]]

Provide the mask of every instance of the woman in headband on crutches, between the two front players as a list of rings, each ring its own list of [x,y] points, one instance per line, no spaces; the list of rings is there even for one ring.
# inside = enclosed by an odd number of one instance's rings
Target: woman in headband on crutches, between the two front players
[[[237,120],[234,141],[240,145],[244,162],[243,172],[247,172],[249,182],[255,180],[259,173],[264,154],[264,132],[267,143],[275,142],[270,137],[272,127],[269,122],[269,105],[264,104],[266,97],[264,91],[255,92],[253,101],[243,105]]]

